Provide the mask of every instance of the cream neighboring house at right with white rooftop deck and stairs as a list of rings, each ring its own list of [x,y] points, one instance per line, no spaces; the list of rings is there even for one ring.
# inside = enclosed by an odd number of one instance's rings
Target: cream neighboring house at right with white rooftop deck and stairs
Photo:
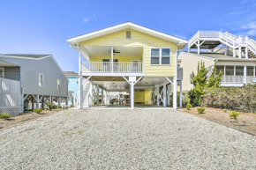
[[[197,50],[191,51],[192,48]],[[181,60],[180,67],[184,70],[184,91],[192,88],[192,71],[197,73],[200,61],[209,70],[216,63],[218,71],[223,72],[222,86],[252,84],[252,79],[256,77],[256,41],[248,36],[199,31],[188,41],[188,52],[181,52],[178,58]]]

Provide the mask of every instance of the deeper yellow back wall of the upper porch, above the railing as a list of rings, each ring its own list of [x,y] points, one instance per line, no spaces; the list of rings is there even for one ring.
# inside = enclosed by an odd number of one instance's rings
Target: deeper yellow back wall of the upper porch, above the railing
[[[102,62],[102,59],[111,59],[109,55],[92,55],[90,57],[90,62]],[[118,59],[118,62],[131,62],[132,60],[139,60],[142,62],[141,56],[118,56],[114,55],[114,59]]]

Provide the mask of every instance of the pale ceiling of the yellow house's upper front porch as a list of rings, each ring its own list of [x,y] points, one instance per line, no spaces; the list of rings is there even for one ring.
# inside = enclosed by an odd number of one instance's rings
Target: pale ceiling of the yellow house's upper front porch
[[[83,46],[83,48],[89,53],[88,55],[111,55],[110,46]],[[114,53],[114,55],[122,56],[141,56],[142,47],[114,47],[115,51],[120,53]]]

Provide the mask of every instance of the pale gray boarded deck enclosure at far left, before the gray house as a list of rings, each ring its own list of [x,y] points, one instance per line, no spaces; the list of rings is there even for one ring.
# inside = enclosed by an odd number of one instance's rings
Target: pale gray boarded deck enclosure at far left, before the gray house
[[[19,115],[21,106],[20,82],[0,78],[0,113]]]

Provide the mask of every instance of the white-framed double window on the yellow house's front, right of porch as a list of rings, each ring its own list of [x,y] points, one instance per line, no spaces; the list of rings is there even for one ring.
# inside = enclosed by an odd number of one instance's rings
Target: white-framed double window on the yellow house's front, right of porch
[[[170,64],[170,48],[151,48],[151,64]]]

